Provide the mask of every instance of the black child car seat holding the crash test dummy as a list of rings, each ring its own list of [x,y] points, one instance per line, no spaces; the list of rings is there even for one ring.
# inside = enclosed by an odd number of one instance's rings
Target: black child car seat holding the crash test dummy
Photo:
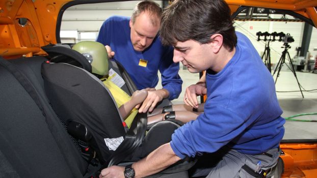
[[[71,58],[71,53],[78,53],[68,48],[62,50],[68,50],[65,55]],[[55,111],[65,123],[80,123],[90,131],[90,145],[105,167],[145,157],[156,147],[169,142],[172,133],[179,127],[170,121],[160,122],[145,136],[147,116],[138,114],[128,129],[123,124],[111,93],[97,77],[83,68],[66,63],[45,63],[42,64],[42,77],[46,94]],[[117,145],[112,147],[111,143]],[[183,160],[178,168],[167,172],[187,170],[193,164],[192,160]]]

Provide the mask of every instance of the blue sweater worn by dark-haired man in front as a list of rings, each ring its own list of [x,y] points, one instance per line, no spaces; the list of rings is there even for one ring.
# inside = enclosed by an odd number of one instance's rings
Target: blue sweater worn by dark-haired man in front
[[[285,120],[273,77],[249,39],[236,35],[236,52],[228,64],[217,74],[206,73],[204,113],[172,135],[172,149],[180,158],[213,153],[224,145],[250,155],[279,146]]]

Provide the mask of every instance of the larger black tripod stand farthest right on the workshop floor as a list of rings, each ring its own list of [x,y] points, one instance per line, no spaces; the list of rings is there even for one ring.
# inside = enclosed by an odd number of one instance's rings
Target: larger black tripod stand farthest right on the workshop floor
[[[286,40],[286,41],[287,41],[287,40]],[[298,78],[297,78],[297,76],[296,76],[296,71],[295,71],[295,69],[294,69],[293,62],[292,62],[292,60],[290,59],[289,53],[288,53],[288,51],[287,51],[287,50],[290,48],[290,46],[288,45],[288,42],[284,42],[283,45],[284,45],[284,51],[282,52],[282,55],[281,55],[281,57],[280,57],[280,60],[278,61],[277,65],[276,65],[276,68],[275,68],[275,70],[274,70],[274,73],[273,73],[273,76],[274,76],[274,74],[275,74],[276,71],[277,71],[277,76],[276,76],[276,79],[275,79],[275,84],[276,84],[276,82],[277,82],[277,78],[278,78],[278,76],[279,76],[279,74],[280,74],[280,71],[281,71],[281,69],[282,69],[282,67],[283,67],[283,64],[285,64],[285,65],[288,67],[288,69],[293,72],[293,74],[294,74],[294,76],[295,76],[295,78],[296,78],[296,81],[297,81],[299,90],[301,91],[302,97],[304,98],[301,85],[300,85],[300,83],[299,83],[299,81],[298,81]],[[286,58],[286,56],[287,56],[287,60],[288,60],[288,62],[289,62],[290,67],[285,63],[285,58]]]

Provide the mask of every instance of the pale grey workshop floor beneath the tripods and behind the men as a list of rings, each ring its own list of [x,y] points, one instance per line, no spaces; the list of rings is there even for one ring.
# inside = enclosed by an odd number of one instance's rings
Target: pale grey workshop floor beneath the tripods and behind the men
[[[199,79],[199,74],[192,74],[187,69],[182,68],[182,65],[180,65],[179,75],[183,80],[182,93],[178,99],[172,101],[173,104],[183,103],[184,90],[187,86],[196,83]],[[302,90],[308,91],[317,89],[317,74],[299,71],[296,71],[296,74],[299,83],[302,85]],[[276,79],[276,74],[274,75],[274,79]],[[162,88],[160,84],[161,81],[157,88]],[[304,98],[302,98],[300,92],[285,92],[299,91],[298,83],[292,72],[287,70],[280,72],[276,82],[276,91],[280,106],[283,109],[283,117],[317,112],[317,90],[303,92]],[[300,120],[317,120],[317,115],[303,115],[294,118]],[[284,127],[285,134],[283,139],[317,139],[317,122],[286,121]]]

